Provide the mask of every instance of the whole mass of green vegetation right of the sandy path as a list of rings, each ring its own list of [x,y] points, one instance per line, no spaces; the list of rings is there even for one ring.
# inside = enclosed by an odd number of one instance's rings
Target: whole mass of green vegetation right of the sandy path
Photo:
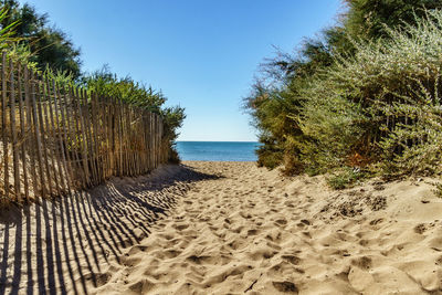
[[[348,0],[341,23],[263,65],[245,98],[259,164],[286,173],[438,173],[442,1]],[[344,171],[344,172],[343,172]]]

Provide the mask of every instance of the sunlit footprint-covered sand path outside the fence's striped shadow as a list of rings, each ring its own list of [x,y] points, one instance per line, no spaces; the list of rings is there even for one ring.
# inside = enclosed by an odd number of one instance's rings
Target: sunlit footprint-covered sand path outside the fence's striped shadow
[[[442,294],[442,202],[423,181],[336,192],[254,164],[186,165],[219,178],[196,182],[98,292]]]

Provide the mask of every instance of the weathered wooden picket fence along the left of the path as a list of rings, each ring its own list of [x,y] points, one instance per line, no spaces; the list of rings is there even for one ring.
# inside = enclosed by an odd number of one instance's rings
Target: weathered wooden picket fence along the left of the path
[[[62,196],[165,161],[160,116],[1,57],[2,202]]]

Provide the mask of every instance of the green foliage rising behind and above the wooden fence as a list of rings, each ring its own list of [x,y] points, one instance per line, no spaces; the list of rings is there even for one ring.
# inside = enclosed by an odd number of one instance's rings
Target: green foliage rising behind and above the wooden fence
[[[107,66],[92,74],[81,72],[80,50],[66,33],[49,27],[48,14],[39,14],[29,4],[17,0],[0,0],[0,46],[8,55],[40,74],[67,85],[83,86],[88,92],[148,109],[162,117],[162,143],[169,148],[169,160],[179,161],[175,150],[178,128],[186,118],[180,106],[166,107],[167,98],[159,91],[127,76],[117,77]]]

